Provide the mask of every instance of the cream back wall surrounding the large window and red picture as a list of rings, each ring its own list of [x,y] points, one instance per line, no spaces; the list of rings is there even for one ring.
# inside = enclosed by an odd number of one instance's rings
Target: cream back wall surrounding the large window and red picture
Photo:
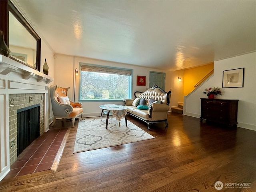
[[[75,77],[75,69],[79,69],[79,62],[89,63],[89,64],[97,64],[102,66],[112,66],[119,68],[128,68],[133,69],[133,86],[132,86],[132,96],[134,98],[135,91],[145,91],[148,88],[149,84],[149,71],[156,72],[165,72],[166,73],[166,82],[165,82],[165,91],[168,92],[170,89],[173,90],[173,72],[166,70],[156,70],[152,68],[144,68],[129,64],[110,62],[104,60],[96,60],[91,58],[82,58],[77,56],[67,56],[56,54],[56,58],[54,59],[55,64],[55,76],[54,76],[54,84],[61,87],[70,87],[68,90],[68,97],[70,100],[74,100],[74,77]],[[136,86],[136,77],[146,76],[146,86]],[[78,101],[78,91],[79,91],[79,76],[76,77],[76,98],[75,101]],[[115,104],[124,104],[123,102],[113,102]],[[96,116],[100,115],[99,106],[105,104],[105,102],[83,102],[84,108],[84,116]],[[172,97],[170,106],[173,105]]]

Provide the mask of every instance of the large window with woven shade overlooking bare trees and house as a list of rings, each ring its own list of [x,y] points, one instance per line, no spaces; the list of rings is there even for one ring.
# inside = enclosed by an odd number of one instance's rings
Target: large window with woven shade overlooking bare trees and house
[[[80,100],[131,98],[132,70],[80,64]]]

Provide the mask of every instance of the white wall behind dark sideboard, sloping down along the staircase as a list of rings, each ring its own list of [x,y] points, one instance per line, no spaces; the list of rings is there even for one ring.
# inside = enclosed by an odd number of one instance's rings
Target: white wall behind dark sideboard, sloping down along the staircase
[[[244,68],[244,87],[222,88],[222,72],[236,68]],[[201,100],[207,98],[203,94],[205,88],[221,88],[220,99],[239,99],[238,127],[256,130],[256,52],[227,58],[214,62],[214,75],[198,87],[186,98],[184,114],[200,117]]]

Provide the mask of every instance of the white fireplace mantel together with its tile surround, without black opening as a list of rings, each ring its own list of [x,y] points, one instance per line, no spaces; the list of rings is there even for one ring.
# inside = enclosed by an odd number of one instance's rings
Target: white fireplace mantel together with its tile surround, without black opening
[[[0,55],[0,180],[17,160],[17,109],[40,104],[40,135],[49,130],[48,84],[53,78]]]

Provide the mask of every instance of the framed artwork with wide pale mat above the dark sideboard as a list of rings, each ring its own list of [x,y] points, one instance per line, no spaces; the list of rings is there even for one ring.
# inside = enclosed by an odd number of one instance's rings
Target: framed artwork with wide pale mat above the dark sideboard
[[[244,68],[223,71],[222,88],[244,87]]]

